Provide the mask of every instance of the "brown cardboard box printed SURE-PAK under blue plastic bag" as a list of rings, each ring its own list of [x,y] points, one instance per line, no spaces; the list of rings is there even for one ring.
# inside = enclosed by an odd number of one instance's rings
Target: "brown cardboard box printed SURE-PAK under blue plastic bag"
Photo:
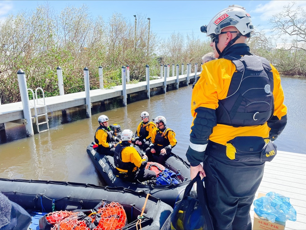
[[[266,194],[259,193],[259,197],[264,197]],[[264,217],[257,216],[256,213],[254,213],[254,223],[253,223],[253,230],[258,229],[265,229],[265,230],[284,230],[285,229],[286,222],[281,221],[275,221],[272,223],[268,219]]]

